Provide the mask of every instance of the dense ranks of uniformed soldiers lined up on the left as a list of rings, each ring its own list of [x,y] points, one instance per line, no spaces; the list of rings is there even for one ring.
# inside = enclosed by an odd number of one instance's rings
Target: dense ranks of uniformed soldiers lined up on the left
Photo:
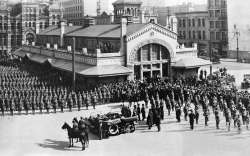
[[[0,110],[2,115],[25,112],[81,110],[109,102],[103,90],[72,91],[71,81],[59,71],[18,59],[0,61]],[[101,97],[101,98],[100,98]]]

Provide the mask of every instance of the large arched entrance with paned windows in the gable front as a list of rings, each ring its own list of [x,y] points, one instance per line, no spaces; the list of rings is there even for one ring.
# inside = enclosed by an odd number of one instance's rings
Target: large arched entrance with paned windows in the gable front
[[[159,43],[149,43],[138,48],[132,62],[134,79],[170,77],[170,52]]]

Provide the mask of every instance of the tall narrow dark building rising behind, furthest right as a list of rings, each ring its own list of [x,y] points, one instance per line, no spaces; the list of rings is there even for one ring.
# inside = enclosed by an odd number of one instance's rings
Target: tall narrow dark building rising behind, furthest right
[[[208,0],[210,54],[225,57],[228,50],[227,0]]]

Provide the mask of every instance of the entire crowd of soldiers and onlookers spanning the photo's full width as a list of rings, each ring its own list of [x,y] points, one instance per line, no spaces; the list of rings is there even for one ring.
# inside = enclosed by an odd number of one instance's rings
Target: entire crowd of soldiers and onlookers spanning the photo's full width
[[[219,75],[219,76],[218,76]],[[228,76],[226,69],[220,69],[213,77],[221,82],[220,77]],[[204,116],[205,126],[214,114],[216,127],[219,128],[220,113],[223,112],[230,130],[231,121],[241,129],[248,128],[250,102],[249,93],[237,92],[234,88],[224,88],[211,83],[206,72],[199,77],[186,79],[160,79],[148,81],[125,81],[98,84],[95,88],[86,89],[77,84],[77,92],[71,90],[71,81],[55,69],[32,64],[29,61],[0,61],[0,109],[4,115],[26,112],[57,112],[65,109],[88,109],[89,106],[112,102],[128,102],[131,116],[147,121],[149,128],[154,124],[160,131],[164,119],[164,108],[168,115],[175,111],[176,119],[181,115],[190,122],[190,128]],[[143,102],[142,102],[143,101]],[[150,107],[150,108],[149,108]],[[146,114],[146,109],[149,108]],[[123,111],[124,112],[124,111]],[[202,113],[202,114],[200,114]],[[126,114],[128,115],[128,114]]]

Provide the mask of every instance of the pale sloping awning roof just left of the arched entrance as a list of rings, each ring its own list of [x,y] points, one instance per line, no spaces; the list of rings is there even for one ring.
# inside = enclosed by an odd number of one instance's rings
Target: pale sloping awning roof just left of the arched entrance
[[[124,66],[120,65],[105,65],[105,66],[94,66],[87,70],[80,72],[85,76],[116,76],[116,75],[129,75],[132,71]]]

